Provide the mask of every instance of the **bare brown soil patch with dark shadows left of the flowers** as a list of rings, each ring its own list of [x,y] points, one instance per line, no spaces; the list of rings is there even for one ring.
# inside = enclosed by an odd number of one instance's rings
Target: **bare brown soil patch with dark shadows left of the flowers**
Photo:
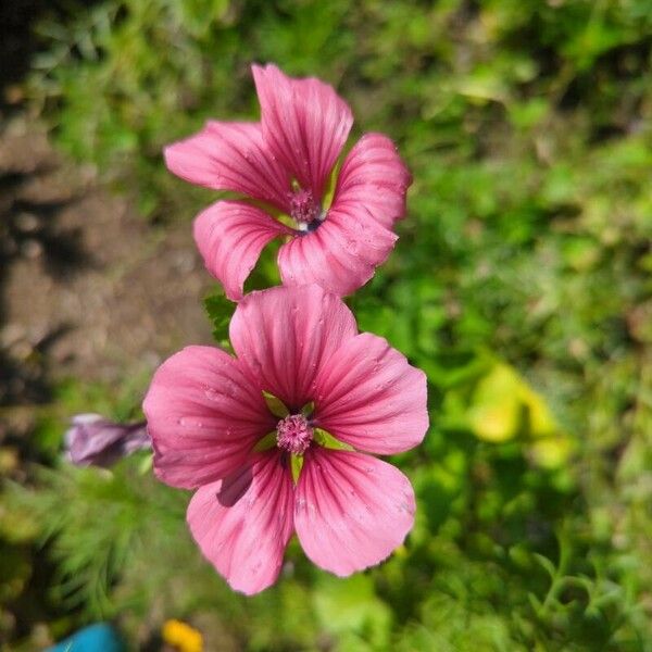
[[[117,384],[211,340],[201,308],[211,279],[189,223],[153,228],[92,171],[63,161],[25,118],[0,135],[0,179],[11,181],[0,185],[10,224],[0,350],[12,364],[36,352],[50,381],[72,375]]]

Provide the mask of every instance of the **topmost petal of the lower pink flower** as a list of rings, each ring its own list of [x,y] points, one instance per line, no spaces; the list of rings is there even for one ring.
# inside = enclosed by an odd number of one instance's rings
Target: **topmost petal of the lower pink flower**
[[[252,381],[291,411],[312,400],[321,365],[356,333],[351,311],[318,286],[251,292],[230,323],[231,344]]]

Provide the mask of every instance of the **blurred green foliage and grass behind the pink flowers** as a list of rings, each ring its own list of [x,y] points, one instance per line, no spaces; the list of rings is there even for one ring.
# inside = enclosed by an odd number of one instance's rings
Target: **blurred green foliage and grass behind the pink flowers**
[[[340,580],[291,544],[277,586],[246,599],[147,459],[61,457],[64,418],[137,417],[152,366],[58,378],[38,401],[7,390],[2,415],[39,405],[28,431],[0,430],[2,649],[114,618],[155,650],[180,618],[208,650],[652,650],[652,2],[26,7],[3,120],[45,125],[153,239],[215,198],[162,147],[255,118],[251,62],[322,77],[356,135],[394,139],[409,215],[349,302],[426,371],[431,428],[392,460],[418,513],[387,563]],[[274,274],[267,255],[253,285]]]

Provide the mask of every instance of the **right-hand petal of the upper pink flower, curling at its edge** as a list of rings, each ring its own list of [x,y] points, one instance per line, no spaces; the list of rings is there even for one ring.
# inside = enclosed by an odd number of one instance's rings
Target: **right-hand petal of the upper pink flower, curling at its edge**
[[[412,176],[394,143],[381,134],[366,134],[349,152],[337,179],[333,205],[348,215],[371,213],[387,228],[405,215]]]

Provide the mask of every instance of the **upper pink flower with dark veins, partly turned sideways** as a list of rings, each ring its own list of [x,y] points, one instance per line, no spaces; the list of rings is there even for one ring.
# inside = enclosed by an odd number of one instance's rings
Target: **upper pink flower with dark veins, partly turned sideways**
[[[318,79],[293,79],[272,64],[252,71],[260,123],[209,122],[165,149],[167,167],[183,179],[255,200],[220,201],[200,213],[199,250],[235,301],[276,237],[288,240],[278,252],[285,285],[317,283],[348,294],[393,248],[410,174],[389,138],[367,134],[346,156],[329,203],[329,177],[353,124],[351,110]],[[292,226],[275,220],[278,213]]]

